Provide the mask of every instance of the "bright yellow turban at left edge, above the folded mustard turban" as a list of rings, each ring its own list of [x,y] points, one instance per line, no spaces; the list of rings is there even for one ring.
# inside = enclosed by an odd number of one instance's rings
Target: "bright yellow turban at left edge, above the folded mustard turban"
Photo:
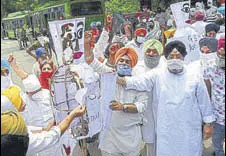
[[[20,96],[20,88],[17,86],[11,86],[2,92],[2,95],[6,96],[9,101],[16,107],[17,110],[20,109],[22,104],[22,98]]]

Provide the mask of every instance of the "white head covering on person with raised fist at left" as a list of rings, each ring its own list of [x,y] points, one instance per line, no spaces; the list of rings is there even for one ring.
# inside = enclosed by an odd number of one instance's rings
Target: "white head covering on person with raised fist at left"
[[[29,75],[23,80],[25,92],[34,92],[42,88],[38,78],[35,75]]]

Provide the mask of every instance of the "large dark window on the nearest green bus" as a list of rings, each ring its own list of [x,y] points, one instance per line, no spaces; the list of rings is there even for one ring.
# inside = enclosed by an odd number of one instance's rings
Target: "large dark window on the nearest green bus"
[[[103,14],[102,5],[100,1],[78,2],[71,4],[71,15],[73,17],[97,14]]]

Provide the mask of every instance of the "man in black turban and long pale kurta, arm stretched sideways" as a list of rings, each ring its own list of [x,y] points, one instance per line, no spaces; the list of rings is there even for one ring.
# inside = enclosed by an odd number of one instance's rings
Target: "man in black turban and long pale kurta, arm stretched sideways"
[[[186,47],[173,41],[165,47],[167,67],[118,81],[127,89],[153,91],[157,156],[201,156],[202,122],[211,134],[215,121],[203,78],[184,65]]]

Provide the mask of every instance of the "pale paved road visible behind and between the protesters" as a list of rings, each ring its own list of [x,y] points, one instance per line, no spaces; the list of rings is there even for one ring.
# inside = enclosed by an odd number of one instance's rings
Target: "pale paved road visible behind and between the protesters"
[[[8,58],[10,54],[13,54],[14,56],[16,56],[18,65],[23,70],[25,70],[28,73],[31,73],[32,65],[34,64],[35,60],[31,56],[29,56],[25,52],[25,50],[19,50],[19,45],[17,41],[1,40],[1,57]],[[11,71],[11,74],[13,77],[13,82],[23,89],[22,81],[18,78],[18,76],[13,71]],[[212,147],[211,139],[206,140],[204,142],[204,146],[207,148],[204,147],[203,156],[214,156],[213,155],[214,150]],[[90,145],[90,149],[91,149],[90,151],[91,156],[101,156],[100,152],[96,151],[97,149],[96,144]],[[80,155],[76,154],[75,156],[80,156]],[[144,154],[144,151],[142,151],[142,156],[146,156],[146,154]]]

